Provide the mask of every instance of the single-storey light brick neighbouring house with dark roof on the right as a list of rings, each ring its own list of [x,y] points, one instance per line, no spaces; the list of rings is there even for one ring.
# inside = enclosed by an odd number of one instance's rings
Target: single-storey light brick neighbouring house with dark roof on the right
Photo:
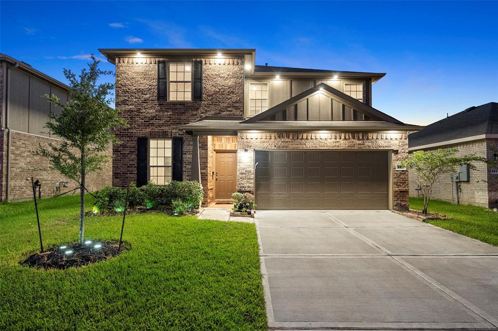
[[[456,148],[458,156],[475,153],[477,156],[498,160],[498,103],[490,102],[478,107],[470,107],[455,115],[446,117],[426,126],[423,130],[409,135],[409,151],[434,151]],[[476,163],[477,170],[470,170],[469,181],[460,181],[459,199],[462,204],[483,207],[497,205],[498,171],[496,166]],[[455,169],[455,173],[459,169]],[[419,191],[416,174],[409,171],[410,195]],[[455,202],[451,174],[442,175],[432,189],[432,197]]]

